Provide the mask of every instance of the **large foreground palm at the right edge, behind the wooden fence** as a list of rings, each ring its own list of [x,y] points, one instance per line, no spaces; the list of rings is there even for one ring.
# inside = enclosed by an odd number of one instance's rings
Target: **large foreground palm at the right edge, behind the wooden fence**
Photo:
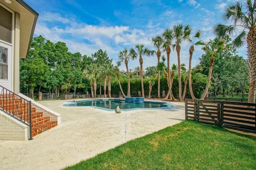
[[[244,7],[244,8],[243,8]],[[216,24],[213,33],[224,37],[233,35],[242,27],[242,32],[233,40],[234,47],[240,48],[247,44],[247,56],[250,68],[250,87],[248,102],[255,103],[256,90],[256,1],[246,0],[228,5],[222,16],[222,21],[230,21],[233,25]]]

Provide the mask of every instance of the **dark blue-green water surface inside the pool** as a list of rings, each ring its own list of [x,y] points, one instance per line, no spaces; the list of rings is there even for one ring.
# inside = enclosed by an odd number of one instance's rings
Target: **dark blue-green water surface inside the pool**
[[[142,102],[142,103],[128,103],[124,100],[83,100],[77,102],[77,106],[96,106],[106,109],[134,109],[134,108],[161,108],[167,107],[164,102]]]

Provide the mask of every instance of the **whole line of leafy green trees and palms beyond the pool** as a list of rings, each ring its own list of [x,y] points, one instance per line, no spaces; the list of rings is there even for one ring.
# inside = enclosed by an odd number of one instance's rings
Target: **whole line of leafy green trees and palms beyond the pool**
[[[137,73],[139,73],[141,92],[144,97],[143,57],[156,55],[158,60],[158,65],[156,66],[158,98],[160,98],[160,85],[162,84],[160,83],[160,72],[162,72],[166,78],[166,84],[168,85],[166,98],[169,97],[172,100],[175,100],[176,95],[178,96],[178,100],[184,99],[187,84],[189,86],[190,97],[192,99],[198,98],[193,92],[192,84],[195,83],[195,81],[193,82],[193,74],[201,73],[208,75],[208,79],[204,90],[199,92],[202,94],[200,99],[206,97],[209,89],[214,92],[219,92],[232,88],[232,91],[233,89],[240,89],[244,92],[246,86],[248,86],[247,80],[249,79],[248,102],[255,102],[256,73],[254,73],[254,71],[256,69],[254,69],[255,64],[253,64],[256,60],[256,53],[253,48],[255,47],[255,41],[249,41],[250,39],[255,40],[256,36],[255,8],[255,1],[252,2],[251,0],[247,0],[244,4],[242,4],[242,2],[236,2],[236,4],[229,5],[222,18],[223,20],[230,20],[234,25],[214,25],[213,32],[217,37],[214,40],[210,40],[208,43],[201,40],[201,30],[196,31],[194,35],[192,35],[192,28],[188,24],[176,24],[172,28],[166,28],[161,35],[152,37],[154,50],[148,49],[143,44],[137,44],[129,49],[125,47],[119,52],[119,61],[116,63],[116,66],[114,66],[112,60],[108,58],[107,52],[101,49],[95,54],[92,54],[91,57],[86,55],[82,56],[79,52],[74,54],[68,52],[68,48],[63,42],[54,44],[44,39],[42,36],[34,37],[28,57],[25,60],[21,59],[20,62],[21,88],[27,89],[27,91],[29,89],[33,97],[34,88],[39,88],[40,91],[42,87],[48,89],[50,93],[56,92],[56,94],[59,94],[61,90],[63,93],[67,94],[70,90],[76,92],[77,88],[86,88],[88,87],[87,85],[89,85],[92,97],[96,97],[97,84],[99,85],[100,94],[103,84],[104,96],[106,96],[106,86],[108,86],[108,96],[110,97],[111,78],[115,75],[118,79],[122,95],[131,96],[128,61],[130,59],[139,58],[140,71]],[[231,42],[228,34],[232,34],[236,31],[235,27],[238,22],[242,24],[244,31]],[[249,32],[246,30],[249,30]],[[188,49],[189,66],[187,72],[183,71],[186,72],[186,74],[184,80],[182,80],[180,51],[181,44],[184,41],[190,42],[190,48]],[[236,47],[241,47],[245,44],[248,49],[248,60],[244,60],[242,57],[236,55]],[[205,54],[199,58],[200,64],[192,69],[191,61],[194,53],[194,45],[202,45],[202,50]],[[171,50],[175,50],[177,54],[178,63],[173,65],[174,67],[176,66],[175,69],[170,66]],[[162,54],[166,54],[166,57]],[[165,65],[166,58],[167,66]],[[237,63],[237,61],[240,63]],[[126,94],[122,90],[120,71],[118,69],[118,66],[122,63],[126,66]],[[248,71],[250,76],[248,76]],[[178,94],[173,93],[174,77],[176,75],[178,76]],[[228,76],[231,78],[228,78]],[[151,79],[152,81],[149,81],[149,92],[152,91],[152,87],[154,86],[154,78]],[[108,85],[106,85],[107,80]],[[183,92],[182,86],[184,86]]]

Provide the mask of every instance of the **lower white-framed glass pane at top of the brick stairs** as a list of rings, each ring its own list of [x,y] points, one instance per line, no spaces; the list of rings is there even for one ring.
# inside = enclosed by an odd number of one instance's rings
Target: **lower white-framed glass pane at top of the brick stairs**
[[[0,46],[0,79],[8,79],[8,49]]]

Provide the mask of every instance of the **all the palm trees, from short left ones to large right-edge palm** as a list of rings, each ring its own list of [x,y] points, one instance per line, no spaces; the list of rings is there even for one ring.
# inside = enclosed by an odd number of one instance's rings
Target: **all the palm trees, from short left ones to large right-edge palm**
[[[244,8],[243,8],[244,7]],[[118,77],[118,82],[120,86],[120,90],[122,92],[122,95],[125,96],[122,86],[120,84],[119,79],[119,70],[118,66],[120,66],[122,63],[126,66],[126,76],[128,79],[128,85],[127,85],[127,96],[131,96],[130,92],[130,74],[132,73],[130,69],[128,68],[128,62],[130,59],[139,59],[140,66],[136,67],[134,69],[134,73],[138,77],[140,77],[141,80],[141,92],[142,97],[144,97],[144,84],[143,84],[143,57],[147,56],[153,56],[154,54],[157,57],[158,61],[158,98],[160,98],[160,71],[162,70],[164,72],[164,76],[166,78],[167,84],[168,84],[168,93],[166,95],[166,99],[170,98],[172,100],[176,100],[173,93],[172,93],[172,83],[174,79],[174,73],[178,73],[178,100],[182,101],[184,100],[185,94],[186,94],[186,85],[189,84],[189,91],[192,99],[195,99],[195,96],[193,94],[192,90],[192,78],[191,78],[191,62],[192,62],[192,56],[194,53],[194,46],[195,45],[204,45],[202,50],[206,53],[206,55],[209,57],[210,65],[209,65],[209,74],[208,74],[208,80],[206,84],[206,88],[202,94],[202,97],[200,99],[204,99],[206,97],[206,94],[208,92],[211,76],[212,76],[212,68],[214,63],[214,58],[216,56],[219,56],[221,54],[221,51],[226,48],[226,42],[224,40],[224,37],[228,34],[232,35],[233,33],[236,33],[238,31],[237,27],[242,27],[242,32],[233,40],[234,47],[242,47],[243,45],[247,44],[247,52],[248,52],[248,61],[250,65],[250,88],[249,88],[249,99],[248,102],[255,102],[255,91],[256,91],[256,1],[252,0],[246,0],[244,3],[238,1],[235,4],[229,5],[224,15],[222,16],[223,21],[231,21],[234,23],[234,25],[224,25],[221,23],[218,23],[214,25],[213,33],[214,35],[218,36],[218,42],[214,42],[212,44],[206,44],[204,41],[201,40],[202,37],[202,31],[198,30],[192,35],[192,27],[188,24],[175,24],[171,28],[166,28],[161,35],[156,35],[152,37],[151,41],[154,46],[154,50],[150,50],[147,47],[145,47],[144,44],[137,44],[134,47],[130,47],[130,49],[127,49],[125,47],[123,50],[119,51],[117,66],[113,66],[113,64],[107,65],[104,70],[102,70],[102,74],[104,75],[104,97],[106,97],[106,77],[108,77],[108,95],[111,96],[111,75],[112,72],[115,72],[116,76]],[[190,42],[190,48],[188,50],[189,52],[189,66],[188,66],[188,72],[186,72],[185,65],[180,63],[180,51],[181,51],[181,44],[185,41]],[[170,53],[171,50],[175,50],[177,53],[177,64],[173,64],[172,68],[170,68]],[[166,53],[167,56],[167,70],[165,66],[165,57],[162,56],[162,53]],[[162,56],[162,61],[160,61]],[[84,72],[84,76],[86,76],[90,80],[91,88],[94,88],[94,95],[96,95],[96,81],[95,78],[97,78],[96,72],[94,72],[92,69],[95,66],[90,66],[86,69]],[[115,71],[113,69],[116,69]],[[182,72],[186,74],[185,81],[184,81],[184,90],[182,94],[182,81],[181,81],[181,75]],[[154,84],[154,81],[149,81],[149,98],[150,93],[152,90],[152,85]],[[93,91],[93,90],[92,90]]]

